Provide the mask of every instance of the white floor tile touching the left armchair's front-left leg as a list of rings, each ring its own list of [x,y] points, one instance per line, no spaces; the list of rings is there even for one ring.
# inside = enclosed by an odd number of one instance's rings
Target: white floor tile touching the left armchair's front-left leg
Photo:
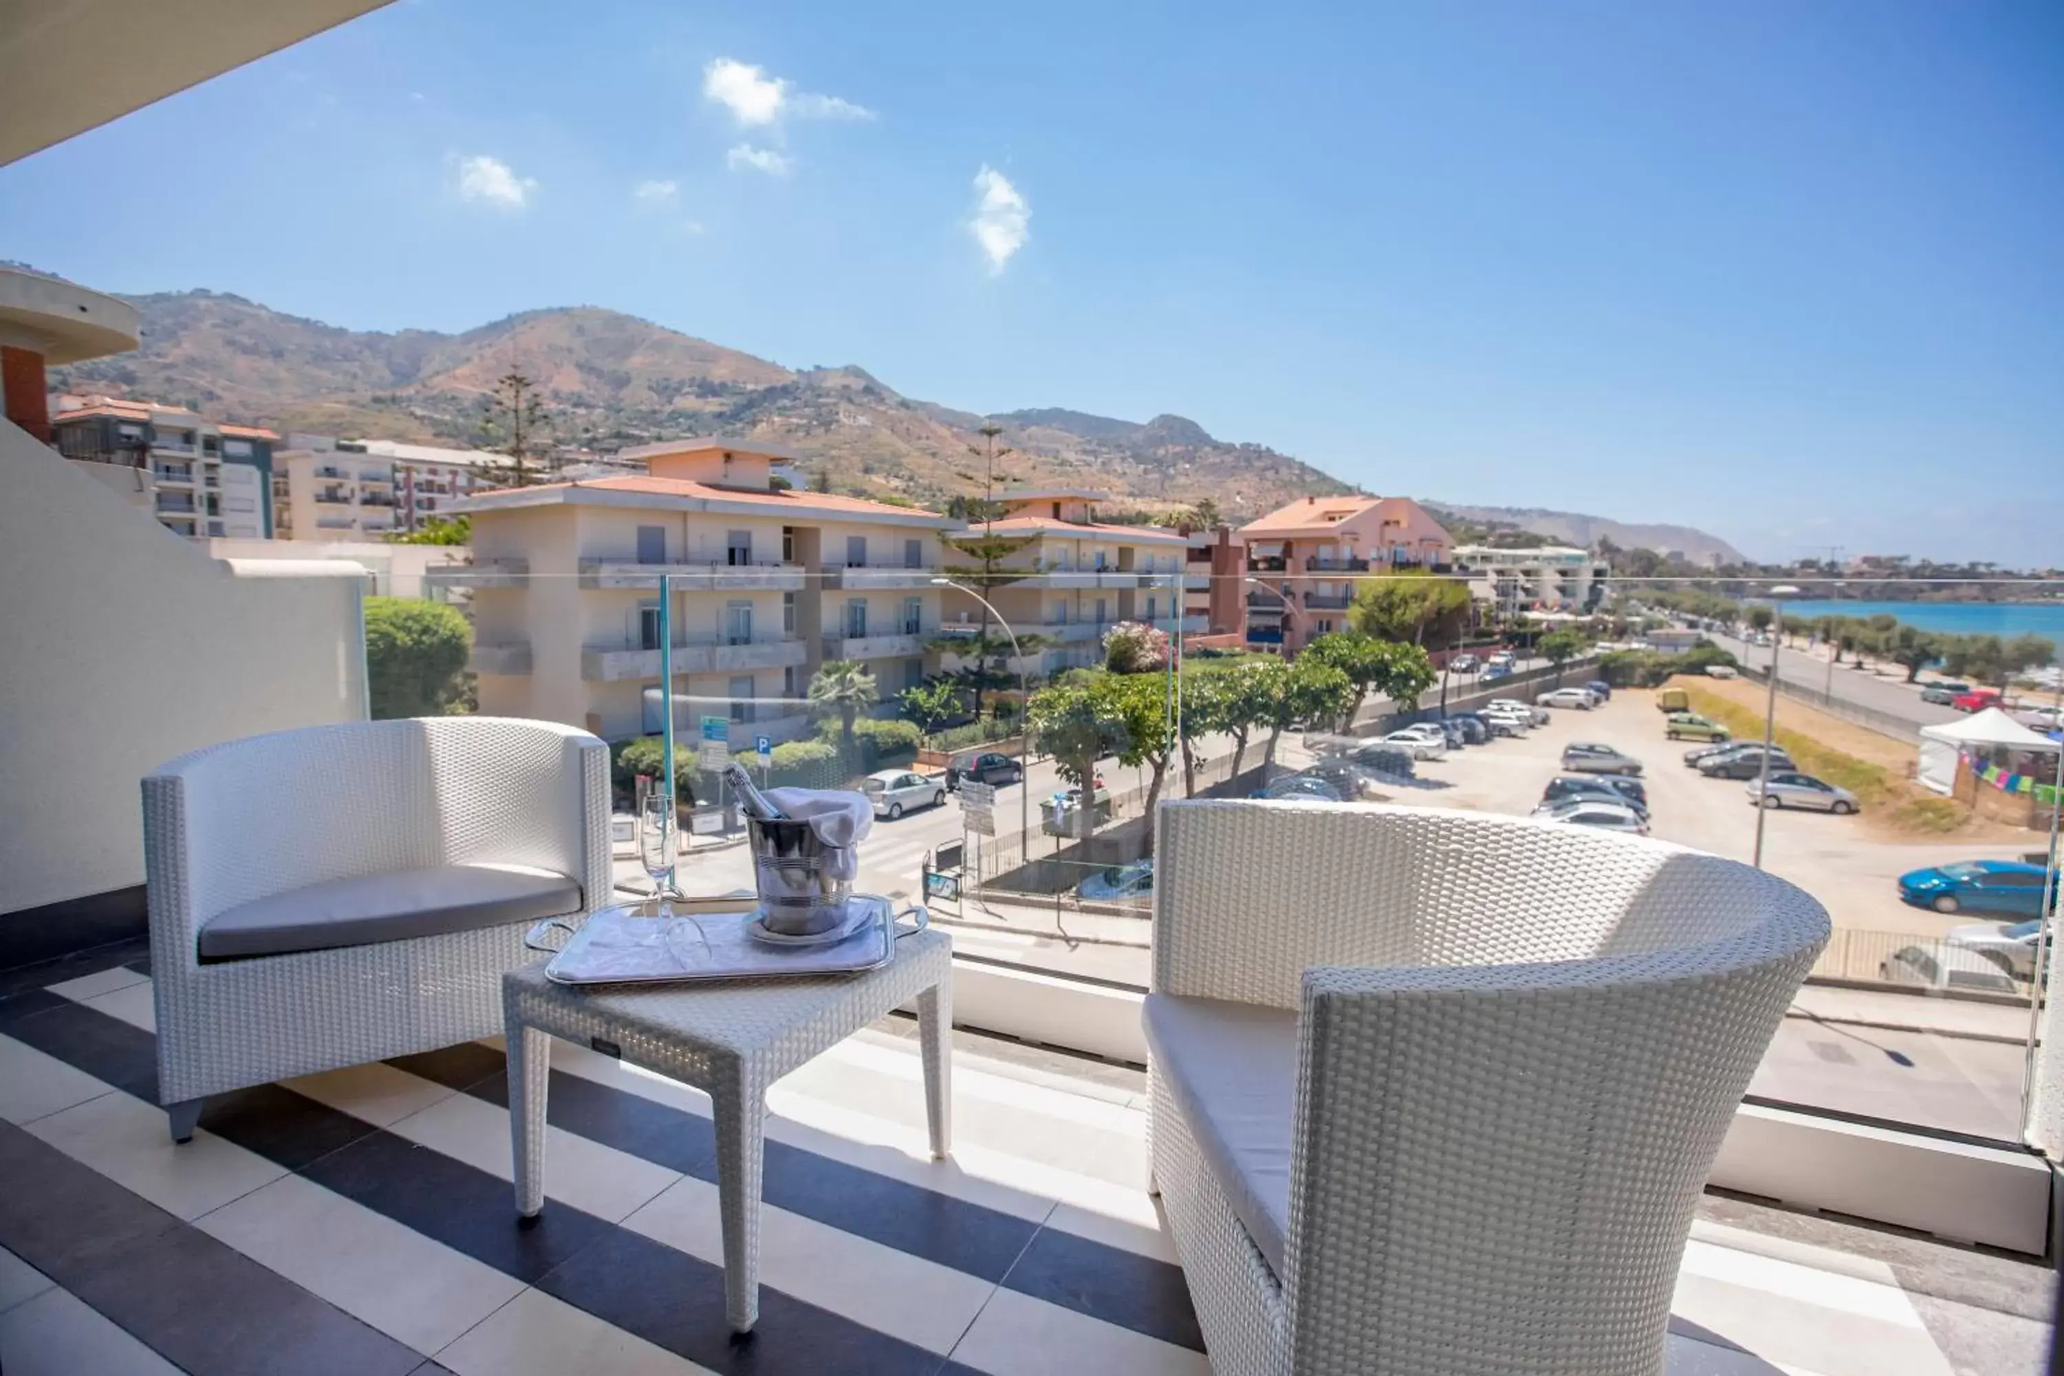
[[[165,1135],[165,1110],[126,1093],[103,1093],[37,1118],[27,1131],[182,1219],[196,1219],[287,1174],[208,1131],[175,1145]]]

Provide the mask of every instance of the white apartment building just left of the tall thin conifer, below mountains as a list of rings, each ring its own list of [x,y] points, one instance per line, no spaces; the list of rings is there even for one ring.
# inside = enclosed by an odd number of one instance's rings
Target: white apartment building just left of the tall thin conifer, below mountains
[[[495,487],[502,462],[479,450],[293,433],[272,464],[275,528],[283,540],[417,530],[452,501]]]

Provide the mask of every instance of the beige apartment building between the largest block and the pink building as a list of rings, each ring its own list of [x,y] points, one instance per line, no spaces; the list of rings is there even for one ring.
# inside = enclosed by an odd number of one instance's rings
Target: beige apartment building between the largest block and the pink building
[[[1009,673],[1053,675],[1096,664],[1104,631],[1117,621],[1150,621],[1170,635],[1207,627],[1207,615],[1185,609],[1189,592],[1212,586],[1210,576],[1189,571],[1187,536],[1160,526],[1100,524],[1098,493],[1026,491],[1003,501],[1003,518],[976,522],[964,534],[1024,540],[997,561],[999,571],[1024,578],[985,592],[1011,631],[1044,642],[1022,660],[1011,658]],[[978,565],[960,551],[947,551],[947,563]],[[947,635],[980,633],[982,604],[949,588],[943,627]],[[991,633],[1001,633],[993,619]],[[956,666],[960,660],[949,654],[947,668]]]

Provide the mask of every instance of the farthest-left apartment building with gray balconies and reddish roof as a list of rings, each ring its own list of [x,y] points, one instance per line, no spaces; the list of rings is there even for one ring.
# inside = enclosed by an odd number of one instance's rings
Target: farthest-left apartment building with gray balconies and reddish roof
[[[217,425],[186,406],[116,396],[58,396],[52,444],[85,464],[134,470],[126,493],[188,538],[272,534],[268,429]]]

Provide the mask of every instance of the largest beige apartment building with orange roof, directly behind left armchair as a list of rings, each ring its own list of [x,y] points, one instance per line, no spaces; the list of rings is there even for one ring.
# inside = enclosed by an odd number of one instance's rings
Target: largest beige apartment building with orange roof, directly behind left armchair
[[[642,474],[477,493],[473,670],[481,712],[621,741],[660,730],[658,586],[673,578],[675,730],[731,722],[733,749],[811,728],[805,691],[861,660],[883,701],[939,633],[933,512],[776,489],[791,456],[727,439],[627,450]]]

